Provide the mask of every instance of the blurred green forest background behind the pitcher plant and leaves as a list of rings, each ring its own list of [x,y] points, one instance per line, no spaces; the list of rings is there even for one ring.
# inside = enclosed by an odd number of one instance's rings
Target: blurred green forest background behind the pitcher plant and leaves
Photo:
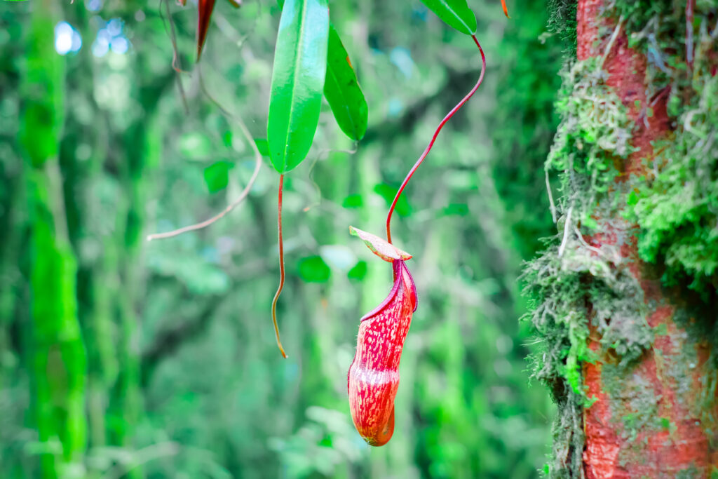
[[[218,2],[201,65],[191,0],[58,2],[45,29],[30,23],[41,1],[2,2],[0,477],[51,477],[41,458],[62,456],[67,441],[76,451],[65,477],[538,477],[554,411],[527,372],[520,274],[555,232],[543,162],[561,44],[544,2],[508,3],[511,19],[498,0],[469,1],[485,82],[398,204],[393,237],[414,254],[419,308],[393,439],[370,448],[351,422],[346,375],[359,318],[388,293],[391,268],[348,226],[383,233],[396,188],[475,83],[470,38],[419,0],[330,1],[369,129],[353,144],[325,103],[309,158],[286,178],[284,360],[269,314],[279,276],[269,162],[220,222],[144,240],[218,213],[251,177],[253,150],[234,117],[266,137],[275,2]],[[48,36],[52,57],[28,62]],[[60,127],[48,137],[24,117],[23,85],[52,68]],[[42,259],[29,246],[26,150],[48,141],[62,190],[52,202],[77,266],[61,301],[76,309],[43,321],[75,321],[86,361],[43,370],[32,311],[53,299],[31,280]],[[38,411],[61,426],[70,401],[80,407],[74,439],[42,437]]]

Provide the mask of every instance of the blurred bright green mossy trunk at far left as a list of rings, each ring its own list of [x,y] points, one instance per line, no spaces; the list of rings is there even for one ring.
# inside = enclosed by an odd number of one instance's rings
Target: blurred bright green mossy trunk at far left
[[[67,235],[57,155],[64,60],[55,52],[56,5],[32,5],[22,88],[21,141],[29,197],[33,417],[43,478],[83,477],[85,346],[75,297],[77,264]]]

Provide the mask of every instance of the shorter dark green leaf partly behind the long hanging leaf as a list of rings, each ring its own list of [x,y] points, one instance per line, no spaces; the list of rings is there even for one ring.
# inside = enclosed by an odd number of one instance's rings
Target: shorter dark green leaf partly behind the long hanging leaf
[[[369,110],[349,60],[349,54],[332,25],[329,27],[324,96],[332,107],[332,113],[340,129],[350,139],[357,141],[362,139],[366,133]]]

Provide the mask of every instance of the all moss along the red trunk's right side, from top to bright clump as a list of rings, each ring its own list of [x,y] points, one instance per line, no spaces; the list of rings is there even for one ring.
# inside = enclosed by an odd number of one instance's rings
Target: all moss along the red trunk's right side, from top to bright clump
[[[707,299],[718,287],[718,4],[697,0],[690,29],[685,2],[615,0],[605,14],[630,32],[629,45],[648,60],[649,97],[666,88],[675,121],[674,134],[654,145],[648,182],[629,198],[640,256],[665,269],[667,286],[689,284]]]

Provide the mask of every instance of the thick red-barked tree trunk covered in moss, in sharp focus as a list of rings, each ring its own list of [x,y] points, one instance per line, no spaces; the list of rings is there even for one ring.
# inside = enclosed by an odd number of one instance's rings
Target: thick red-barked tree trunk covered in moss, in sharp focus
[[[559,2],[565,4],[567,2]],[[570,3],[570,2],[569,2]],[[528,266],[551,477],[718,471],[718,4],[579,0]],[[564,5],[565,7],[565,5]]]

